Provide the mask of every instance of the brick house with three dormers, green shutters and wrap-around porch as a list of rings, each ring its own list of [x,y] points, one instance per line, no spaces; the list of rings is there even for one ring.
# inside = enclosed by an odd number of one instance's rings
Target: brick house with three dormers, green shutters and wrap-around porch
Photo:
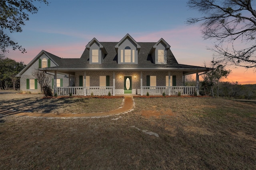
[[[199,94],[199,73],[212,68],[178,64],[170,45],[136,42],[126,34],[119,42],[93,38],[80,59],[62,59],[41,51],[20,73],[20,90],[40,92],[32,69],[52,74],[58,95]],[[185,75],[196,73],[197,86],[185,86]]]

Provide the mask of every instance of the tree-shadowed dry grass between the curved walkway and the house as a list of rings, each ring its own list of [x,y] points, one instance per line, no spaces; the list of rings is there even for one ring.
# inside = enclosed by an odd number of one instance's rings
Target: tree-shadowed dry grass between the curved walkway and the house
[[[38,113],[95,113],[121,107],[122,98],[43,98],[42,94],[0,94],[0,109]]]

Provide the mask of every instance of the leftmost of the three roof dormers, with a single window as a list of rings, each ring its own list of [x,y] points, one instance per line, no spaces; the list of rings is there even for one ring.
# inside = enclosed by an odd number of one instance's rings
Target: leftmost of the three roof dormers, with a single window
[[[108,54],[106,52],[106,49],[96,38],[93,38],[92,41],[90,41],[86,45],[86,49],[89,50],[89,63],[90,64],[103,63],[103,59],[104,59],[105,55]]]

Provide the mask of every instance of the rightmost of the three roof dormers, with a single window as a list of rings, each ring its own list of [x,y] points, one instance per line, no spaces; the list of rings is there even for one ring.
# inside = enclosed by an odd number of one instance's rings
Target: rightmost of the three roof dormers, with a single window
[[[149,52],[152,56],[153,63],[167,64],[167,50],[170,49],[170,47],[171,46],[161,38]]]

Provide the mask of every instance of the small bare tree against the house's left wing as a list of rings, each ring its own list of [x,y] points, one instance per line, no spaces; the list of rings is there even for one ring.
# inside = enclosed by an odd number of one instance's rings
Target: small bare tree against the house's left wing
[[[50,86],[51,75],[47,74],[44,71],[36,70],[36,68],[32,69],[31,74],[37,79],[38,84],[40,85],[41,92],[45,86]]]

